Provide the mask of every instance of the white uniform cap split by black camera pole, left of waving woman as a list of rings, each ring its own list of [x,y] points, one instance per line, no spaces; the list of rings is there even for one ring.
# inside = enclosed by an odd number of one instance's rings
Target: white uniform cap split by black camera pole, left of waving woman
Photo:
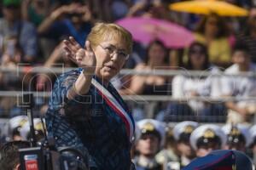
[[[34,118],[33,119],[34,122],[34,128],[35,130],[42,130],[43,131],[43,124],[41,122],[41,119],[39,118]],[[20,136],[23,140],[28,140],[27,136],[30,133],[30,126],[29,126],[29,122],[26,122],[26,124],[24,124],[23,127],[21,127],[20,129]]]

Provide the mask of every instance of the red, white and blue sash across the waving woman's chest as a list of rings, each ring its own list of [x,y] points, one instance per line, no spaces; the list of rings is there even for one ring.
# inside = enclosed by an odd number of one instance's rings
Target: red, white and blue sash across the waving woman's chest
[[[106,103],[117,113],[118,116],[125,122],[125,127],[127,134],[130,138],[130,141],[133,139],[135,125],[131,119],[131,116],[125,111],[125,109],[119,104],[119,102],[113,97],[112,94],[108,92],[108,89],[104,88],[102,84],[92,78],[91,83],[96,87],[99,94],[102,95],[102,98]]]

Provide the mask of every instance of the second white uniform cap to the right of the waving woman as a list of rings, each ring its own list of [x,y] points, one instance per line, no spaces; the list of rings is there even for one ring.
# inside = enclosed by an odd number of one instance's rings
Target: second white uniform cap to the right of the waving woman
[[[173,137],[174,139],[178,140],[181,133],[186,133],[186,132],[192,133],[196,127],[198,127],[198,122],[192,122],[192,121],[179,122],[172,129]]]

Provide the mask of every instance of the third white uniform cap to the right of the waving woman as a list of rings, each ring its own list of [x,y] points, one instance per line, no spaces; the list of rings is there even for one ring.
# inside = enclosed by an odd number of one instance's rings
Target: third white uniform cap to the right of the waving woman
[[[191,133],[190,135],[190,144],[194,150],[197,150],[197,146],[196,146],[197,140],[200,139],[208,129],[212,130],[212,132],[215,133],[216,136],[218,136],[221,142],[221,147],[222,148],[224,147],[224,144],[226,144],[226,141],[227,141],[227,136],[221,130],[221,128],[218,127],[217,125],[205,124],[195,128],[193,133]]]

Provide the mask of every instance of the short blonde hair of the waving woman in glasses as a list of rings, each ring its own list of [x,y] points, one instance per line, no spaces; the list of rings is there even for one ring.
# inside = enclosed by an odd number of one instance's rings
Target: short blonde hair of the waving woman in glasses
[[[90,41],[91,48],[96,48],[100,42],[110,39],[117,39],[125,42],[127,53],[131,54],[132,36],[131,33],[125,30],[122,26],[108,23],[96,23],[87,37],[87,40]]]

